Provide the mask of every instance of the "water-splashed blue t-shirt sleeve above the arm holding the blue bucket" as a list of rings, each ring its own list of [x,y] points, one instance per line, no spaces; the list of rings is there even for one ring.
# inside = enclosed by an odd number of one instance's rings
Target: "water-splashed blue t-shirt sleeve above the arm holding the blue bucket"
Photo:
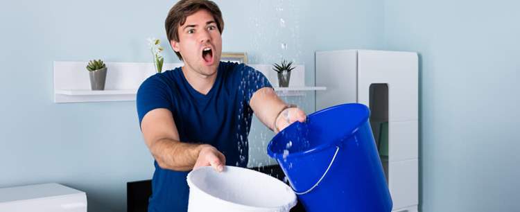
[[[263,75],[260,71],[253,69],[252,67],[248,67],[246,65],[241,64],[241,68],[243,68],[243,82],[244,82],[244,91],[245,91],[245,102],[249,103],[251,97],[254,92],[258,91],[263,87],[272,87],[269,80],[266,76]]]

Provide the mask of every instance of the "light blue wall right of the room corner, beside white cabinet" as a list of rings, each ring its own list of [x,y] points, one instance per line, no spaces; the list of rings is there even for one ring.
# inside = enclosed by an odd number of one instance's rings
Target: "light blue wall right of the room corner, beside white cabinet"
[[[385,48],[420,54],[422,211],[520,211],[520,3],[384,8]]]

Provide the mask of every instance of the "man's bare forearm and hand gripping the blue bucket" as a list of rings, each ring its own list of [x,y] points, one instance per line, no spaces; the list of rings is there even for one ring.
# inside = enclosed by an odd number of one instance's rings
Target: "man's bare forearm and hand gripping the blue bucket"
[[[287,108],[271,87],[258,89],[251,97],[249,105],[259,120],[275,133],[295,121],[304,122],[305,112],[297,107]],[[283,110],[283,111],[282,111]]]

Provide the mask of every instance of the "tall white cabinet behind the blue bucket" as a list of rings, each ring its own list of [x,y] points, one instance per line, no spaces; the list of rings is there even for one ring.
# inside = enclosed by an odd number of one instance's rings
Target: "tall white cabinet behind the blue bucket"
[[[370,122],[392,195],[392,211],[417,211],[417,53],[319,51],[315,53],[315,66],[316,85],[327,86],[327,91],[316,92],[317,109],[343,103],[370,107]]]

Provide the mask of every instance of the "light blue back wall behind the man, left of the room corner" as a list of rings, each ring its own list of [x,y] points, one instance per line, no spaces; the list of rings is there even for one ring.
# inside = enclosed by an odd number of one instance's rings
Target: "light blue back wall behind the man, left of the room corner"
[[[89,211],[125,211],[125,183],[153,173],[135,102],[55,104],[52,64],[149,62],[145,39],[166,42],[164,18],[173,3],[0,2],[0,187],[58,182],[86,191]],[[383,44],[381,0],[217,3],[226,21],[224,51],[245,51],[251,63],[284,57],[305,64],[308,85],[314,82],[314,51]],[[177,62],[169,48],[165,57]],[[313,111],[312,94],[289,100]],[[269,162],[264,146],[271,136],[254,125],[257,163]]]

